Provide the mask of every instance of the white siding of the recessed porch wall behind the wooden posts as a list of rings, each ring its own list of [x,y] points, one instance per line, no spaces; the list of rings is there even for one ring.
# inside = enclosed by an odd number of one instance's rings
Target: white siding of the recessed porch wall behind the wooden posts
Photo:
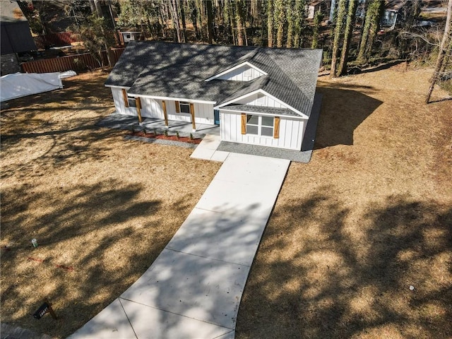
[[[114,106],[117,113],[127,115],[138,115],[136,107],[126,107],[121,88],[112,88]],[[191,114],[176,113],[176,101],[165,100],[167,117],[169,120],[191,121]],[[214,124],[213,104],[194,102],[195,122],[198,124]],[[141,117],[164,119],[163,104],[160,99],[141,97]]]

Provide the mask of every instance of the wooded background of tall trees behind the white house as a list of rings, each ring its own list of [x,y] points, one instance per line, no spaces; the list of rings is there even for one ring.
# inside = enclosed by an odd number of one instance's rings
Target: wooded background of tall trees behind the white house
[[[19,2],[35,33],[71,30],[100,62],[102,49],[119,43],[118,31],[132,29],[142,40],[321,48],[333,77],[416,61],[435,67],[433,85],[452,88],[452,0]],[[385,27],[388,13],[397,13],[397,20]]]

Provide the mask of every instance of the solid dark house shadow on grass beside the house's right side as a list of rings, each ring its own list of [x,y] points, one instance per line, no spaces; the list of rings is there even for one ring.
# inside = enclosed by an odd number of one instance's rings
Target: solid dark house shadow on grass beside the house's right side
[[[353,145],[355,129],[382,104],[362,93],[363,90],[371,93],[373,89],[369,87],[328,83],[317,90],[323,94],[323,100],[314,149]]]

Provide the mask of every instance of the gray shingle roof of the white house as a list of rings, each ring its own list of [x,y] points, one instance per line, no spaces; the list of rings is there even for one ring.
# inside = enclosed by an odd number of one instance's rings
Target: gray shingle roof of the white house
[[[134,95],[228,102],[255,90],[309,116],[321,49],[130,42],[105,85],[130,87]],[[248,61],[268,73],[253,81],[205,81]]]

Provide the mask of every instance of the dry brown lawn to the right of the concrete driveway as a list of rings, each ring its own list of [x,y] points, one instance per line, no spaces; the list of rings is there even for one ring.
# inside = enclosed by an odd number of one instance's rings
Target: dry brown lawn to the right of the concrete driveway
[[[431,74],[319,78],[316,150],[290,166],[236,338],[451,338],[452,102],[424,104]]]

